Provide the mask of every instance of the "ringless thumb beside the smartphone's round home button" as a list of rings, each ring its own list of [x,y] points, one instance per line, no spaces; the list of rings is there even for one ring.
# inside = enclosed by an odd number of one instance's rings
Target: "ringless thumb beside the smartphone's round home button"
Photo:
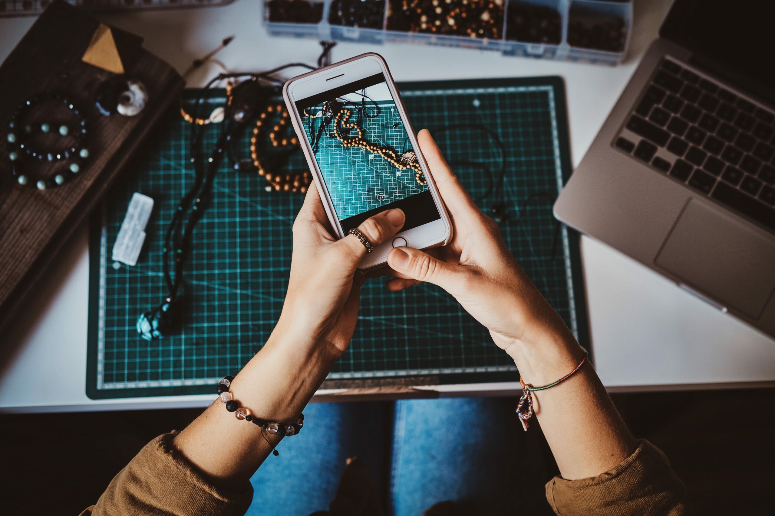
[[[414,248],[394,248],[387,255],[387,264],[406,278],[439,285],[453,296],[467,275],[462,265],[447,263]]]

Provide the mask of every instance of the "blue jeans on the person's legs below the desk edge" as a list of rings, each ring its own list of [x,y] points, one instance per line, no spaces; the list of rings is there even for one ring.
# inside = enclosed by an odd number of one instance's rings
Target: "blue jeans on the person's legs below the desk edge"
[[[301,434],[253,475],[248,514],[327,509],[353,456],[383,491],[385,514],[417,516],[448,500],[466,514],[543,513],[556,466],[537,425],[523,432],[514,407],[513,398],[311,403]]]

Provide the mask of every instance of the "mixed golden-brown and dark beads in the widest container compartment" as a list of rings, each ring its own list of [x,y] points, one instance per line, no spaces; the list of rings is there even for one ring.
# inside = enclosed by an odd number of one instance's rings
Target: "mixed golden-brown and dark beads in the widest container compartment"
[[[387,30],[501,39],[505,0],[388,0]]]

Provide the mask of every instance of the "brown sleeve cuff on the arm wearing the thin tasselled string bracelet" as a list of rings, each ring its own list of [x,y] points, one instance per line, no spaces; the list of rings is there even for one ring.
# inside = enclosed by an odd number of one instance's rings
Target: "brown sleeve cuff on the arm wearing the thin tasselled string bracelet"
[[[554,477],[546,484],[546,500],[560,516],[694,514],[688,508],[686,488],[667,457],[646,440],[622,463],[597,477]]]

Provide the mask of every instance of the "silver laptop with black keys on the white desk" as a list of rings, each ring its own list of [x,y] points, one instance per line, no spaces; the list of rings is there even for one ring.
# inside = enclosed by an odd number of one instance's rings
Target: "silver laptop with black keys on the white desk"
[[[554,213],[775,337],[772,10],[675,0]]]

